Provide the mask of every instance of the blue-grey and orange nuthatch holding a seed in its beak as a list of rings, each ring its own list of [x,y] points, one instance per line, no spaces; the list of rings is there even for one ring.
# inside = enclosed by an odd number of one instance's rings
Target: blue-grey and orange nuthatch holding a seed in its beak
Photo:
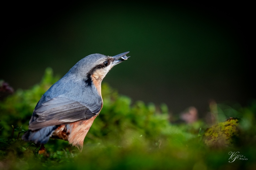
[[[41,145],[39,153],[45,152],[50,138],[66,140],[82,152],[84,138],[103,107],[101,82],[113,66],[130,57],[128,53],[91,54],[78,61],[42,95],[21,139]]]

